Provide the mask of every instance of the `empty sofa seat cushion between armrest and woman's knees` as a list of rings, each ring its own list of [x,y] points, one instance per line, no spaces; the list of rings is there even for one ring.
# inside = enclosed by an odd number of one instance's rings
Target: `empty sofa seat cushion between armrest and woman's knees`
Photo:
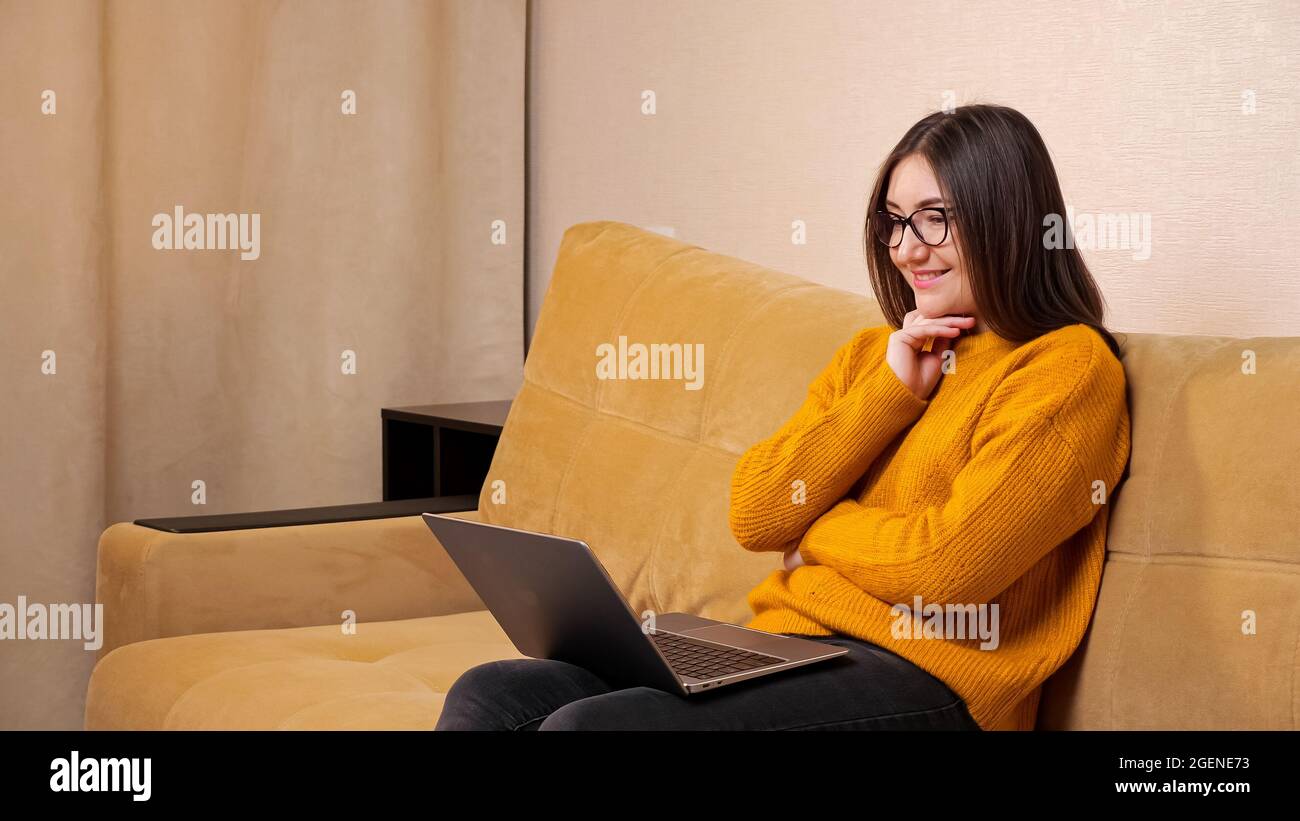
[[[86,729],[432,730],[462,673],[519,657],[488,611],[152,639],[95,666]]]

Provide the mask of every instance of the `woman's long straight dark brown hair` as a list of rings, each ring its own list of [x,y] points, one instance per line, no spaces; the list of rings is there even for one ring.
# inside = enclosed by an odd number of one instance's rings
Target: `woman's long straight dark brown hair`
[[[902,327],[916,309],[907,279],[875,239],[871,221],[885,210],[889,177],[904,157],[930,162],[944,200],[956,213],[958,256],[984,325],[998,336],[1030,342],[1083,323],[1123,359],[1102,325],[1105,300],[1074,243],[1044,247],[1044,220],[1065,223],[1065,197],[1048,147],[1028,118],[1004,105],[962,105],[935,112],[898,140],[880,165],[863,231],[871,287],[885,318]],[[1066,223],[1065,230],[1070,227]]]

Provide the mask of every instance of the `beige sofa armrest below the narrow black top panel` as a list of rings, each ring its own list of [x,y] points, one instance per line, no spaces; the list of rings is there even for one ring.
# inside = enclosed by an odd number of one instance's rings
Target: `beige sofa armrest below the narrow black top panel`
[[[341,625],[344,611],[364,622],[484,609],[419,516],[194,533],[116,524],[99,539],[95,600],[100,657],[172,635]]]

